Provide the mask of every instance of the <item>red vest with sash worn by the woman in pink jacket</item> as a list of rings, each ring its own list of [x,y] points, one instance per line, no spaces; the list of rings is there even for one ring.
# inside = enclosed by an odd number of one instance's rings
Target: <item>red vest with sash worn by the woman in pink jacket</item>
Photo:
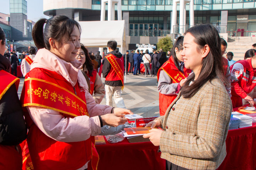
[[[23,107],[48,108],[59,111],[64,117],[88,115],[85,92],[78,83],[73,87],[58,73],[42,68],[34,68],[26,74],[20,100]],[[91,138],[81,142],[59,142],[37,128],[27,112],[25,121],[29,129],[28,149],[36,170],[76,170],[98,157]],[[91,163],[96,169],[98,160],[92,159]]]

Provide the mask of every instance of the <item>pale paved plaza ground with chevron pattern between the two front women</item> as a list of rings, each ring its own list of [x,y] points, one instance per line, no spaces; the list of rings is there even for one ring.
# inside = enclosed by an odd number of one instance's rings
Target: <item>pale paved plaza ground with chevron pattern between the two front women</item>
[[[105,82],[105,78],[102,78]],[[18,95],[20,97],[24,78],[20,78]],[[159,116],[159,94],[156,85],[156,77],[145,77],[145,75],[126,76],[126,83],[122,91],[124,103],[134,114],[143,117]],[[114,101],[113,101],[114,103]],[[106,98],[103,98],[101,104],[106,104]],[[116,105],[114,104],[114,107]]]

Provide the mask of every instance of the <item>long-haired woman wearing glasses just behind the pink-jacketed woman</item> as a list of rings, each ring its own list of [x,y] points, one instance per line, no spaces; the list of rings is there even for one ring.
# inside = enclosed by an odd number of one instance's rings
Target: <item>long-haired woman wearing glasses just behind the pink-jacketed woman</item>
[[[100,103],[106,93],[105,87],[97,71],[94,69],[94,64],[91,62],[88,50],[82,44],[81,48],[76,53],[76,60],[83,64],[81,71],[84,74],[84,77],[89,86],[90,94],[94,94],[94,100],[96,103]]]

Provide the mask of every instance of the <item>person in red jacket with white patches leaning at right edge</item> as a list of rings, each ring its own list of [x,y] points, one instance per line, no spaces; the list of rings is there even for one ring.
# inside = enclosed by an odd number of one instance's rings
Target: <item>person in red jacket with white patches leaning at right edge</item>
[[[252,49],[250,50],[252,51]],[[247,95],[256,86],[256,55],[253,54],[251,59],[237,61],[230,67],[233,108],[242,106],[242,98],[250,104],[254,104],[254,100]]]

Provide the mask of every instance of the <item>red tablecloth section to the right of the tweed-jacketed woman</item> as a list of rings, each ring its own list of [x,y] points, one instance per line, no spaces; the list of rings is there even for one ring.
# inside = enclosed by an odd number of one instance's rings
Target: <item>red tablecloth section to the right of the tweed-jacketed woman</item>
[[[234,108],[234,111],[237,109]],[[226,138],[227,154],[218,170],[256,169],[256,123],[252,125],[251,127],[228,131]]]

